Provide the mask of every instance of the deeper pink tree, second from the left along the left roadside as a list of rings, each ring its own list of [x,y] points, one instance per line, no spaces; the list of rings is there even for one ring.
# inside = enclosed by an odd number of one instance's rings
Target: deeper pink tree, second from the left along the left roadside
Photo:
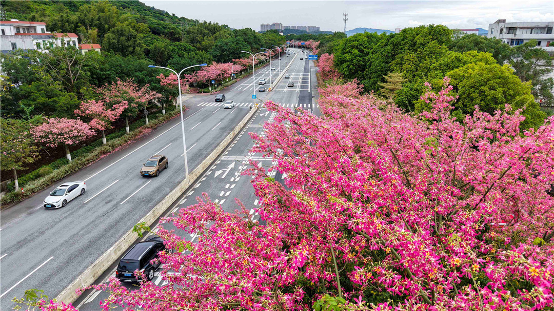
[[[92,120],[89,126],[96,131],[102,132],[102,143],[106,144],[106,135],[104,131],[111,128],[111,122],[117,120],[121,113],[129,106],[126,101],[115,103],[112,107],[105,101],[84,101],[81,102],[79,109],[75,110],[75,115],[89,117]]]

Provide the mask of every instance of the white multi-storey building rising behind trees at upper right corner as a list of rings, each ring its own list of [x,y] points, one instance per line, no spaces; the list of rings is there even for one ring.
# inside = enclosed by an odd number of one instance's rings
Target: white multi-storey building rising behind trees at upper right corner
[[[529,40],[537,40],[537,46],[554,54],[554,22],[506,23],[505,19],[489,24],[487,37],[498,38],[509,45],[520,45]]]

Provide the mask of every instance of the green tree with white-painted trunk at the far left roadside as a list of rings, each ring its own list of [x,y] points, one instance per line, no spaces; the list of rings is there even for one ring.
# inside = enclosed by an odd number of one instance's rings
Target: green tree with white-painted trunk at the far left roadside
[[[0,119],[0,168],[12,170],[16,190],[19,191],[17,170],[39,158],[38,148],[30,136],[29,121]]]

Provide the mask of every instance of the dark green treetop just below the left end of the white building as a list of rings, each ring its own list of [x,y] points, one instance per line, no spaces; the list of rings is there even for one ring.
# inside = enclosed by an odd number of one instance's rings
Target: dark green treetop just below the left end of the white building
[[[500,64],[504,64],[510,56],[510,45],[503,43],[496,38],[487,38],[483,35],[468,34],[455,39],[449,46],[451,51],[467,52],[479,51],[493,55],[493,58]]]

